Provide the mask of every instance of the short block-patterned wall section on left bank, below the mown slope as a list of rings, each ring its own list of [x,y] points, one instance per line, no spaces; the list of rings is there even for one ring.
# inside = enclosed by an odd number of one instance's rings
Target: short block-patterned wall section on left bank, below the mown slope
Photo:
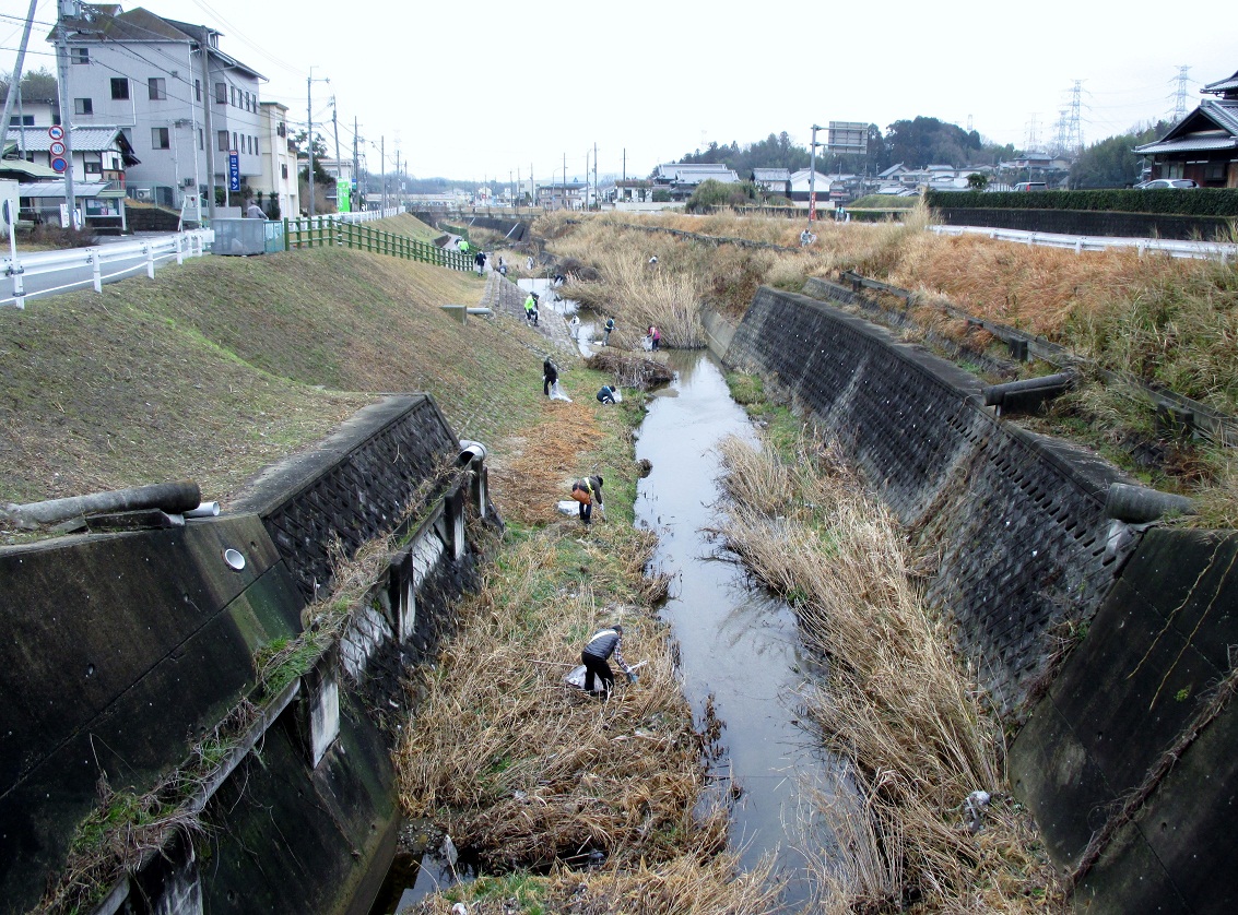
[[[331,580],[332,543],[350,556],[390,530],[418,485],[458,451],[433,398],[389,397],[272,469],[230,508],[261,516],[308,602]]]

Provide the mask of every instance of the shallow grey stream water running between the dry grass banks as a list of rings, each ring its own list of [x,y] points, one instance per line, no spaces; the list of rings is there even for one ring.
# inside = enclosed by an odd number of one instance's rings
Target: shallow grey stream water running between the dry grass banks
[[[652,464],[640,481],[636,523],[659,535],[655,565],[673,576],[662,618],[680,647],[685,692],[699,713],[712,696],[724,722],[724,757],[714,774],[742,790],[732,847],[745,868],[775,854],[791,878],[786,904],[808,893],[805,842],[828,854],[812,832],[806,786],[831,793],[833,765],[796,722],[797,687],[812,660],[802,654],[790,608],[748,580],[711,542],[721,497],[714,448],[728,435],[754,440],[717,361],[671,351],[675,382],[655,396],[639,430],[636,457]]]

